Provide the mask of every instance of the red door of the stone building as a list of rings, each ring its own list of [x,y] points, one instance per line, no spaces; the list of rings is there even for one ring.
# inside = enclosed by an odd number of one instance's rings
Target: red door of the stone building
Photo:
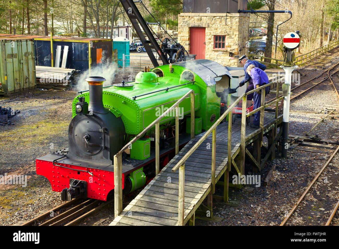
[[[197,55],[196,59],[205,59],[205,28],[190,28],[190,54]]]

